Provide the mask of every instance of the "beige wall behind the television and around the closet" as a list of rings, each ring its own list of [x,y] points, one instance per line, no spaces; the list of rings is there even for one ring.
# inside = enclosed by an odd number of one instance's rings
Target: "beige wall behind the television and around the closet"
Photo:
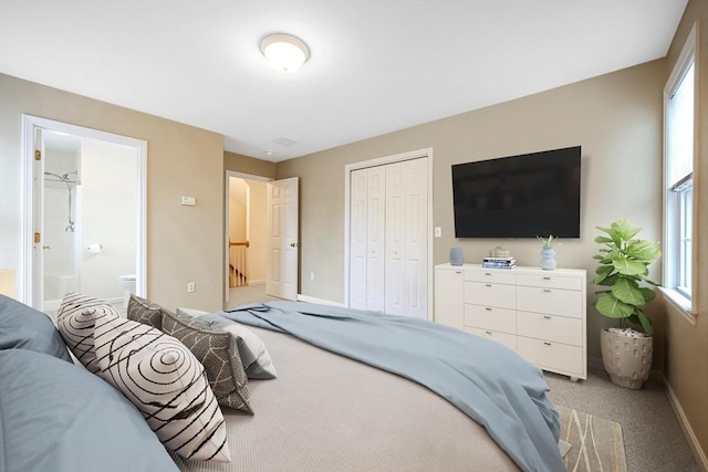
[[[348,162],[433,147],[434,263],[448,261],[451,247],[466,262],[480,262],[489,249],[511,250],[520,265],[538,265],[535,240],[476,240],[454,237],[452,164],[581,145],[581,239],[556,248],[560,266],[595,264],[595,225],[620,218],[662,239],[662,90],[666,61],[658,60],[549,92],[452,116],[385,136],[278,164],[278,178],[301,178],[301,275],[304,295],[344,302],[344,166]],[[655,264],[653,275],[660,276]],[[594,287],[590,286],[593,300]],[[589,300],[589,302],[590,302]],[[649,308],[656,325],[656,369],[663,369],[664,317]],[[587,312],[589,356],[600,358],[600,329],[612,322],[592,306]]]

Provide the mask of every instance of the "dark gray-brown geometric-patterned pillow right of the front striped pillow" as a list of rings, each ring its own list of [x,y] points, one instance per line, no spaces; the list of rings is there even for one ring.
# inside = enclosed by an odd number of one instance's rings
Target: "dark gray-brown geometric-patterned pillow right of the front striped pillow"
[[[167,310],[163,311],[163,333],[181,342],[204,365],[219,405],[253,415],[248,403],[248,378],[230,333]]]

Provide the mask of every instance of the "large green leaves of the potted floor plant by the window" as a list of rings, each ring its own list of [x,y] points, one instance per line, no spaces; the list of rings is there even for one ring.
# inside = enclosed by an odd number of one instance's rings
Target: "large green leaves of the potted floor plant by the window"
[[[658,241],[635,238],[642,229],[632,228],[627,220],[617,220],[610,228],[596,228],[607,235],[595,238],[602,248],[593,255],[600,265],[592,282],[610,290],[595,292],[600,296],[593,305],[602,315],[618,318],[622,327],[627,327],[629,322],[641,325],[647,335],[654,334],[652,319],[644,314],[643,306],[656,294],[653,287],[639,284],[659,285],[648,277],[648,266],[662,256]]]

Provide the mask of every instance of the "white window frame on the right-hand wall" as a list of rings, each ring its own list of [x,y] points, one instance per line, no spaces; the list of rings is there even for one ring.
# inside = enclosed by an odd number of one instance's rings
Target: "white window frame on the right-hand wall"
[[[681,286],[681,283],[686,281],[687,276],[693,279],[691,274],[686,271],[693,271],[696,254],[695,250],[691,250],[691,255],[687,258],[688,251],[686,250],[686,244],[691,243],[693,234],[686,234],[686,228],[681,227],[681,223],[686,221],[686,198],[689,193],[693,196],[693,175],[683,179],[678,183],[669,182],[667,159],[667,120],[669,101],[691,64],[694,65],[694,74],[696,74],[698,69],[696,56],[696,27],[694,27],[688,34],[678,61],[676,61],[676,65],[674,66],[666,86],[664,87],[664,286],[662,287],[666,298],[679,308],[679,312],[687,321],[695,325],[696,312],[690,290],[686,286]],[[694,80],[694,116],[696,115],[697,109],[697,87],[698,83]],[[694,127],[695,126],[697,126],[697,122],[694,119]],[[694,128],[694,136],[695,135],[696,133]],[[694,155],[695,154],[696,144],[694,143]],[[693,233],[693,225],[696,223],[694,204],[691,204],[690,211],[693,221],[690,232]],[[693,281],[693,284],[695,285],[695,280]]]

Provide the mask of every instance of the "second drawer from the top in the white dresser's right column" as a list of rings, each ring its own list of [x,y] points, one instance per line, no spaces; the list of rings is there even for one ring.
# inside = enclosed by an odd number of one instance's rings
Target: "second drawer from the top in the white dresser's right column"
[[[524,312],[582,318],[584,303],[583,292],[574,290],[517,287],[517,308]]]

